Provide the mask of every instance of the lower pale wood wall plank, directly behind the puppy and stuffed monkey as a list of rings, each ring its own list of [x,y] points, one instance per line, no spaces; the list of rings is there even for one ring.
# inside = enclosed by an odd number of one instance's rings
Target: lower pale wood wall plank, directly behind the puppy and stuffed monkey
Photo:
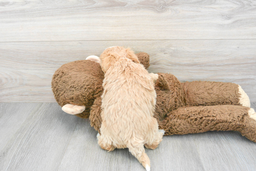
[[[51,78],[57,68],[113,45],[147,52],[149,72],[234,82],[256,101],[256,40],[123,40],[0,43],[0,102],[55,102]]]

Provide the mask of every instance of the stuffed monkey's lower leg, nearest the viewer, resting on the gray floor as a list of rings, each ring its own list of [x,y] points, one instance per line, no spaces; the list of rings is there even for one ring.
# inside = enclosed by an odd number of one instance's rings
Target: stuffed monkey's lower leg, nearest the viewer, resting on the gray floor
[[[256,142],[256,113],[245,106],[185,106],[158,123],[165,135],[232,130]]]

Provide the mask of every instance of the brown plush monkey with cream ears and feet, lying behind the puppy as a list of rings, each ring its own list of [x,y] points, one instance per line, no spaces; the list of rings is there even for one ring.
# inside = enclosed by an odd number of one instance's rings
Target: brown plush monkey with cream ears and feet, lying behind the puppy
[[[149,55],[144,52],[136,55],[147,69]],[[62,65],[53,75],[52,90],[64,111],[89,117],[91,126],[99,131],[104,73],[97,62],[97,56],[90,56]],[[256,142],[256,113],[239,85],[210,81],[181,83],[172,74],[158,75],[154,117],[165,135],[233,130]]]

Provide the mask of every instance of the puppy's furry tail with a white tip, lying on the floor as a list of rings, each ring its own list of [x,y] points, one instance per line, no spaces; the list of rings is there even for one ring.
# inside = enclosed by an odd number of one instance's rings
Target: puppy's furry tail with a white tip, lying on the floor
[[[148,155],[145,153],[144,144],[129,144],[127,148],[133,156],[135,156],[138,161],[142,164],[147,171],[150,171],[150,160]]]

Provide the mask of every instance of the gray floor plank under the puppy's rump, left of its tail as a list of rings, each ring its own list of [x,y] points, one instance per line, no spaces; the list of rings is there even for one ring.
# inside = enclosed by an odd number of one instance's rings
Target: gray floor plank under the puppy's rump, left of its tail
[[[97,133],[88,119],[79,119],[59,170],[129,170],[129,151],[102,150],[98,145]],[[138,170],[143,170],[143,167],[138,167]]]

